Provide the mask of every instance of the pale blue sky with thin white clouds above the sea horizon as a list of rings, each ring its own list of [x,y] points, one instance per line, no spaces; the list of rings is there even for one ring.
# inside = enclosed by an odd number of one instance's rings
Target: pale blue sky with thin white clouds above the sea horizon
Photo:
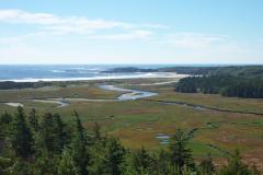
[[[263,65],[262,0],[0,0],[0,63]]]

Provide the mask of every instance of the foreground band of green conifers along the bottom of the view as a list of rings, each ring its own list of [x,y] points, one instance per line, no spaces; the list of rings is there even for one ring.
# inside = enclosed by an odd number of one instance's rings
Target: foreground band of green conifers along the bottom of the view
[[[196,162],[187,148],[190,133],[175,130],[167,149],[129,150],[94,124],[83,128],[77,112],[71,121],[35,109],[0,117],[0,175],[259,175],[236,151],[224,167],[207,158]],[[93,131],[91,131],[93,130]]]

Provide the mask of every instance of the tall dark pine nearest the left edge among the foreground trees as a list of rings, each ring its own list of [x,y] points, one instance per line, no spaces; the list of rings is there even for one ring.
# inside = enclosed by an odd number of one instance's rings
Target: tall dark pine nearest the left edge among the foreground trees
[[[18,113],[14,117],[12,147],[19,158],[26,159],[33,153],[33,138],[25,122],[25,115],[22,107],[18,107]]]

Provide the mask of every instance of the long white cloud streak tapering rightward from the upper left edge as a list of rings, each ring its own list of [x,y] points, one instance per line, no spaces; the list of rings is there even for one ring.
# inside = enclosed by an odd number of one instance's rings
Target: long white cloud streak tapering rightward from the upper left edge
[[[0,10],[0,22],[10,24],[37,25],[42,31],[57,34],[77,33],[90,34],[99,30],[141,30],[141,28],[165,28],[161,24],[133,24],[104,19],[90,20],[84,16],[60,16],[52,13],[31,13],[18,9]]]

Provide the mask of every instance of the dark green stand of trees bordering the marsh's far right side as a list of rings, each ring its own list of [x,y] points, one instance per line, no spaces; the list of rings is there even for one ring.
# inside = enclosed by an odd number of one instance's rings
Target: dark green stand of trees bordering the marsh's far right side
[[[263,98],[263,80],[233,77],[229,74],[190,77],[181,79],[176,92],[221,94],[243,98]]]

